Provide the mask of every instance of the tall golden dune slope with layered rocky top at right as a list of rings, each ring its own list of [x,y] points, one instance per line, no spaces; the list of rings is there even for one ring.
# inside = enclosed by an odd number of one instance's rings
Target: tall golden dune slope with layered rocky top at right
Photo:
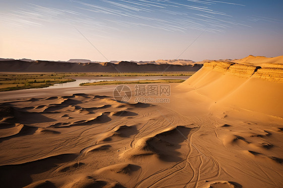
[[[215,101],[216,105],[233,105],[246,110],[283,117],[283,64],[276,58],[249,56],[236,62],[211,61],[179,87]],[[252,61],[254,60],[254,61]],[[249,62],[249,64],[247,64]],[[255,64],[264,64],[264,67]],[[266,67],[271,62],[276,66]],[[245,63],[245,64],[244,64]],[[255,63],[255,64],[253,64]],[[272,65],[272,64],[270,64]]]

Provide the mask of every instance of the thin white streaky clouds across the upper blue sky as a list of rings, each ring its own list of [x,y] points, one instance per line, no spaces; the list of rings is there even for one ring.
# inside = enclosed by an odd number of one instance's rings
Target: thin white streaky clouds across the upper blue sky
[[[82,0],[65,1],[65,9],[27,4],[25,8],[1,13],[0,21],[6,26],[42,26],[45,23],[79,25],[100,32],[125,27],[148,27],[170,32],[196,29],[223,32],[233,25],[245,25],[231,19],[225,12],[213,10],[211,5],[243,6],[231,1],[187,0]],[[105,17],[103,15],[106,15]],[[251,18],[251,20],[256,20]]]

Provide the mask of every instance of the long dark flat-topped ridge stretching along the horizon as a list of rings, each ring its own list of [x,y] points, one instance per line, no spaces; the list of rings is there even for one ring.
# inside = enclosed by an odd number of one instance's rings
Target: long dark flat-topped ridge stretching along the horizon
[[[191,60],[158,60],[159,63],[154,62],[92,62],[87,59],[70,59],[68,61],[1,59],[0,69],[2,72],[195,72],[202,67],[202,64],[194,63]],[[187,62],[187,64],[184,62]]]

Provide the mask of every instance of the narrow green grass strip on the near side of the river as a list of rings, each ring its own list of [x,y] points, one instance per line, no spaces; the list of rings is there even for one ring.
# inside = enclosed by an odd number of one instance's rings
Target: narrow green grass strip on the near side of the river
[[[120,85],[120,84],[143,84],[143,83],[181,83],[183,79],[156,79],[156,80],[137,80],[137,81],[98,81],[92,83],[81,83],[81,86],[86,85]]]

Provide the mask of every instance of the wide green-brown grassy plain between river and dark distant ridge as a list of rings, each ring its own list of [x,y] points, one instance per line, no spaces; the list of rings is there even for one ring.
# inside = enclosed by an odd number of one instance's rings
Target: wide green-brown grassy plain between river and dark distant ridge
[[[55,83],[76,81],[72,78],[79,76],[191,76],[194,73],[195,72],[2,72],[0,73],[0,91],[48,87]]]

